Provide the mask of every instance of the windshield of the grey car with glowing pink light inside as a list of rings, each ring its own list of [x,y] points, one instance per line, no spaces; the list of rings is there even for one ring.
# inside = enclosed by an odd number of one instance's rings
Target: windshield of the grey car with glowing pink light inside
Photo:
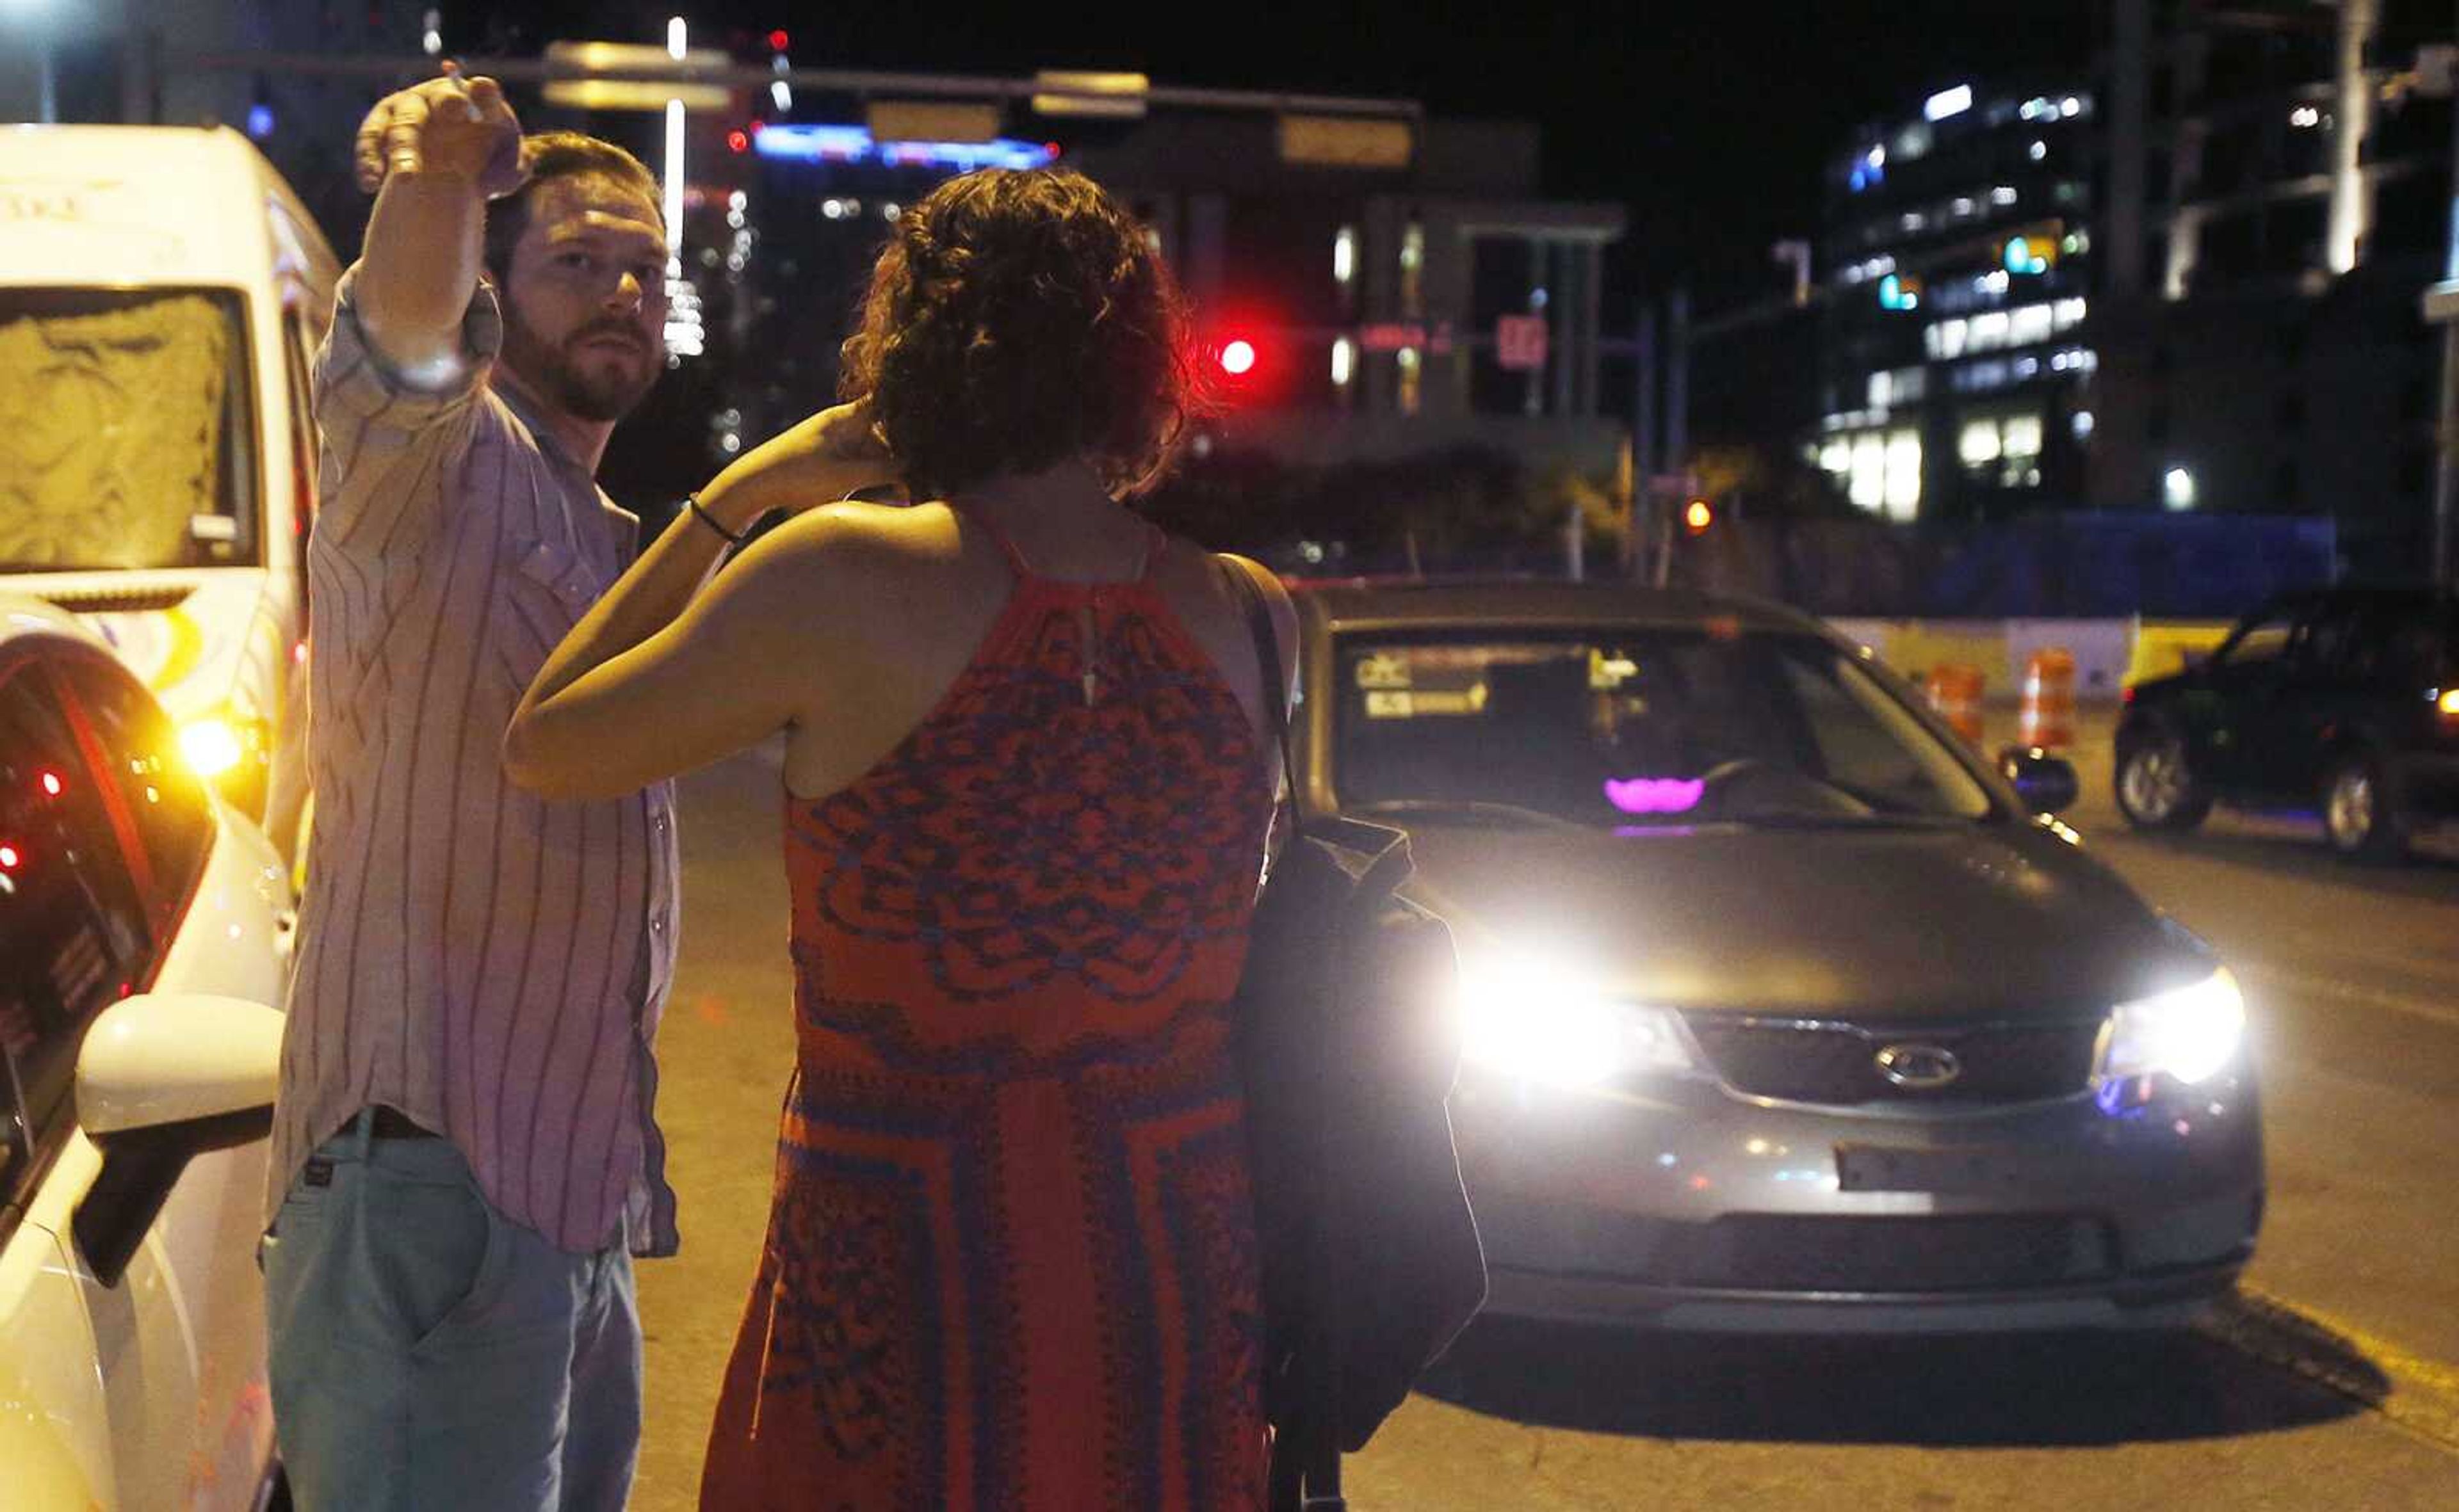
[[[1352,634],[1335,669],[1350,811],[1633,829],[1994,809],[1879,679],[1810,634]]]

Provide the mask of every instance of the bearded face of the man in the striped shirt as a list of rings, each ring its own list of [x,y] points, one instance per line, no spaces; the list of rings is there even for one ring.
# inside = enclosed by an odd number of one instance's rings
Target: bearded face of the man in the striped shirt
[[[666,364],[666,234],[605,175],[541,184],[511,248],[504,366],[583,420],[620,420]]]

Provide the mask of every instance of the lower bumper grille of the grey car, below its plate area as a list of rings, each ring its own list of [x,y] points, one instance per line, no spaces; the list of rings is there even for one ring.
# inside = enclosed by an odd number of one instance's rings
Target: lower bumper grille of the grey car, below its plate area
[[[1788,1217],[1672,1224],[1657,1269],[1729,1291],[2021,1291],[2107,1281],[2117,1244],[2095,1217]]]

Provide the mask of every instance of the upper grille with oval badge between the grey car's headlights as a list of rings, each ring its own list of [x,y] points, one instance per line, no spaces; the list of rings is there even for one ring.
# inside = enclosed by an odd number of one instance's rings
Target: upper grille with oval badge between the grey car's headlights
[[[2075,1097],[2093,1082],[2100,1020],[1901,1030],[1687,1013],[1692,1038],[1724,1084],[1748,1097],[1859,1104],[1979,1104]],[[1898,1087],[1879,1069],[1889,1045],[1955,1055],[1940,1087]]]

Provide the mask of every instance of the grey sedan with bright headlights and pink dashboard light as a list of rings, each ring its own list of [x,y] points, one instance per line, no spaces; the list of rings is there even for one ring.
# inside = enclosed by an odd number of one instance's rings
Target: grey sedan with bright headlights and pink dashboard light
[[[1404,826],[1461,947],[1488,1310],[1933,1333],[2228,1291],[2265,1190],[2245,1003],[2031,811],[2063,762],[1982,762],[1788,610],[1296,597],[1303,801]]]

